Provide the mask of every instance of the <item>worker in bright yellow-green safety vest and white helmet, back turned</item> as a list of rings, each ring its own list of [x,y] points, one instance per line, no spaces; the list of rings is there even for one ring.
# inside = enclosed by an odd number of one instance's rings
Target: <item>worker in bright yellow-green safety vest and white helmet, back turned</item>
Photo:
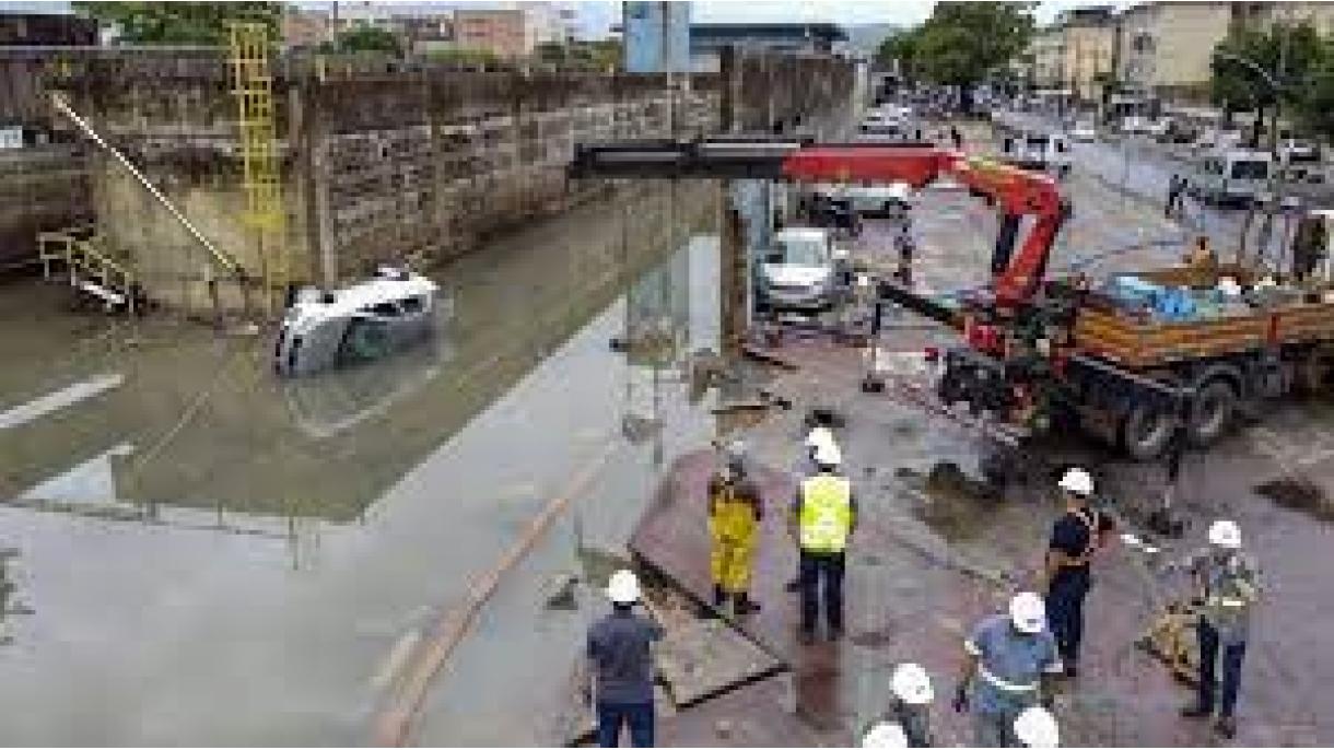
[[[792,503],[791,531],[800,546],[802,642],[815,639],[820,582],[830,641],[843,635],[843,569],[848,536],[856,526],[852,483],[838,474],[838,446],[815,448],[816,474],[802,482]]]

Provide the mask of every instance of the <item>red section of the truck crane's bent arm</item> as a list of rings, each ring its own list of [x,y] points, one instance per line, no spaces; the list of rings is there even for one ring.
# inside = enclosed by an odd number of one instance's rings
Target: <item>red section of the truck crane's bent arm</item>
[[[1009,247],[998,248],[999,263],[994,263],[992,272],[1000,304],[1022,304],[1033,298],[1065,218],[1051,177],[942,148],[808,145],[790,152],[782,171],[791,180],[907,183],[914,188],[948,176],[998,204],[1006,216],[1034,216],[1013,262]]]

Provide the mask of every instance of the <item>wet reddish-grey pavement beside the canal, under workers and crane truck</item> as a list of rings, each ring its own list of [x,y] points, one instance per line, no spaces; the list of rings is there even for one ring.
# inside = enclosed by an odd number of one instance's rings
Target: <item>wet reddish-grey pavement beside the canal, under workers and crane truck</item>
[[[1117,190],[1094,168],[1066,181],[1077,215],[1066,227],[1054,264],[1095,258],[1095,272],[1171,263],[1185,239],[1182,228],[1161,219],[1147,196]],[[928,290],[979,283],[978,268],[990,255],[995,223],[980,202],[962,195],[923,196],[915,215],[922,250],[916,276]],[[1235,215],[1213,212],[1214,226]],[[890,230],[871,224],[858,252],[884,260]],[[926,386],[918,352],[947,336],[904,318],[890,326],[882,344],[890,354],[891,380]],[[1207,723],[1182,721],[1177,711],[1191,694],[1167,670],[1135,646],[1150,618],[1169,599],[1189,590],[1170,562],[1203,543],[1203,531],[1219,516],[1235,518],[1265,570],[1265,599],[1245,667],[1239,705],[1239,746],[1309,746],[1334,741],[1334,711],[1317,683],[1334,675],[1334,642],[1327,635],[1334,585],[1329,567],[1331,527],[1314,515],[1277,506],[1254,486],[1297,471],[1325,492],[1334,492],[1330,440],[1334,415],[1327,403],[1275,407],[1266,422],[1242,427],[1207,454],[1190,454],[1181,482],[1179,512],[1187,522],[1182,540],[1154,539],[1139,526],[1157,506],[1163,468],[1135,464],[1106,446],[1062,436],[1031,466],[1031,480],[1002,499],[932,492],[922,478],[942,462],[975,472],[986,443],[956,420],[923,412],[890,395],[859,390],[860,352],[828,340],[794,340],[775,354],[800,366],[768,386],[791,399],[788,412],[772,412],[743,435],[756,462],[756,478],[771,514],[756,555],[752,591],[763,609],[738,623],[744,633],[782,655],[790,671],[764,705],[739,705],[738,721],[775,725],[800,721],[822,745],[848,745],[884,710],[888,675],[899,661],[916,661],[932,674],[936,703],[932,727],[939,745],[970,745],[966,717],[948,710],[960,658],[960,638],[978,618],[998,611],[1017,586],[1033,581],[1042,565],[1046,532],[1059,512],[1053,482],[1057,468],[1082,463],[1093,468],[1102,491],[1134,531],[1162,547],[1157,555],[1114,546],[1099,559],[1089,601],[1087,638],[1081,678],[1057,699],[1063,745],[1211,746],[1219,739]],[[891,388],[892,391],[892,388]],[[783,591],[792,577],[795,550],[780,512],[800,471],[803,419],[816,406],[844,418],[838,430],[847,475],[862,503],[862,522],[848,556],[847,635],[840,642],[796,642],[796,597]],[[703,482],[715,456],[684,456],[642,518],[632,548],[696,598],[710,591]],[[1294,468],[1295,467],[1295,468]],[[774,515],[779,515],[778,519]],[[748,690],[748,689],[747,689]],[[744,693],[744,691],[740,691]],[[704,709],[704,707],[702,707]],[[667,731],[708,737],[718,706],[668,718]],[[730,745],[716,733],[714,742]],[[738,742],[743,745],[743,742]]]

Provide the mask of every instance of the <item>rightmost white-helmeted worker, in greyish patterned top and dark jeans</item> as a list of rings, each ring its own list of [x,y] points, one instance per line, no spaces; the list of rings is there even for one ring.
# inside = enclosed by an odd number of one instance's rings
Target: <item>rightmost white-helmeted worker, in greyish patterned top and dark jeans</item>
[[[1189,718],[1209,718],[1218,709],[1215,730],[1231,739],[1237,734],[1237,691],[1242,659],[1250,638],[1251,610],[1259,599],[1259,567],[1242,551],[1242,530],[1234,520],[1219,519],[1209,527],[1210,548],[1195,555],[1191,566],[1199,587],[1199,694],[1182,710]],[[1218,658],[1222,653],[1222,659]],[[1215,674],[1222,663],[1222,678]],[[1222,682],[1219,699],[1215,691]]]

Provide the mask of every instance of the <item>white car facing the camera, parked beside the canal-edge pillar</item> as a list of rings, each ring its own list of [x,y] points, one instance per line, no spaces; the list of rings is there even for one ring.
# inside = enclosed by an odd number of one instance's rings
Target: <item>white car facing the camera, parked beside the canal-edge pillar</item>
[[[755,299],[760,310],[822,312],[834,304],[834,236],[826,228],[788,227],[755,264]]]

